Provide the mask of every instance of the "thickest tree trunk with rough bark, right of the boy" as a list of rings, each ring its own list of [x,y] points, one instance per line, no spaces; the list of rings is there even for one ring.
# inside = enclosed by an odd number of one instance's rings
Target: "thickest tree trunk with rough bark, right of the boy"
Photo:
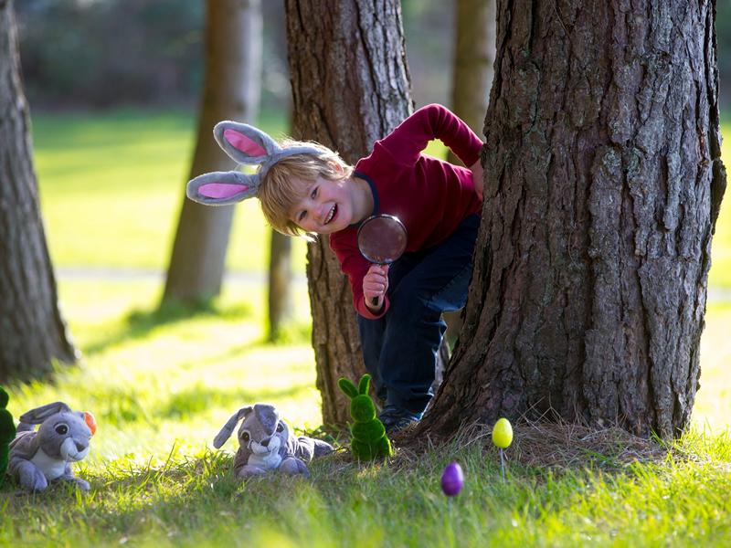
[[[498,2],[465,327],[419,431],[549,408],[687,426],[726,187],[714,17],[714,2]]]

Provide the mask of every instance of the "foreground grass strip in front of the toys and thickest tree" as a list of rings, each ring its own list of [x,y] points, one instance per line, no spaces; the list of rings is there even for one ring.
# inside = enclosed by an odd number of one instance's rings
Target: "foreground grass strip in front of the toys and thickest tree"
[[[694,444],[695,440],[683,442]],[[91,495],[56,490],[6,502],[0,542],[97,546],[724,546],[731,476],[705,447],[703,463],[671,458],[619,473],[552,472],[512,465],[478,446],[443,448],[413,466],[359,467],[338,459],[313,478],[272,477],[242,486],[230,462],[205,452],[139,468],[88,474]],[[694,448],[695,450],[695,448]],[[440,471],[461,462],[466,487],[447,501]]]

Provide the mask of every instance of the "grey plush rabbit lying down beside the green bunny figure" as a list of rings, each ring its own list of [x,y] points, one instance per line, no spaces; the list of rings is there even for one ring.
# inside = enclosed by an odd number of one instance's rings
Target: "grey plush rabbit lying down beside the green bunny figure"
[[[305,462],[333,451],[333,446],[320,439],[294,437],[276,407],[269,404],[241,407],[218,432],[213,440],[215,448],[226,443],[241,419],[234,459],[234,473],[239,479],[261,476],[270,470],[309,477]]]

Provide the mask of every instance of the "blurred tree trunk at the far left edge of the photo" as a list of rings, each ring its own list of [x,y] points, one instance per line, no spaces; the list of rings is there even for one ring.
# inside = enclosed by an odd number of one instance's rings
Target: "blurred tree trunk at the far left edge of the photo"
[[[0,382],[76,360],[38,203],[13,2],[0,0]]]

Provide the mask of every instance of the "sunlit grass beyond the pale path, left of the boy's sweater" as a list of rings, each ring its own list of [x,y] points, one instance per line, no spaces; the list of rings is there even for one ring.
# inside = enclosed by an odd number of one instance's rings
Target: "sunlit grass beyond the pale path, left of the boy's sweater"
[[[261,120],[272,135],[283,120]],[[193,111],[38,114],[33,138],[41,205],[57,267],[164,269],[196,125]],[[213,139],[213,136],[211,136]],[[238,205],[228,268],[261,271],[269,228],[256,200]],[[303,271],[305,246],[294,246]]]

